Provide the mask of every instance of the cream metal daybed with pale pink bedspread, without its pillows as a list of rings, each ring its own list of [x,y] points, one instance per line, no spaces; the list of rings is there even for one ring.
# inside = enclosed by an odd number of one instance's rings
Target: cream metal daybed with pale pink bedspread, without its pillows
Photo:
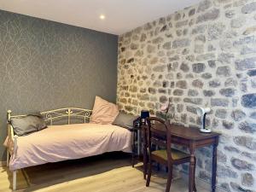
[[[41,114],[48,127],[18,137],[14,134],[10,120],[25,115],[13,116],[8,111],[8,137],[5,146],[8,147],[7,165],[13,172],[14,190],[17,170],[28,166],[74,160],[112,151],[131,152],[131,131],[117,125],[88,123],[91,110],[61,108]]]

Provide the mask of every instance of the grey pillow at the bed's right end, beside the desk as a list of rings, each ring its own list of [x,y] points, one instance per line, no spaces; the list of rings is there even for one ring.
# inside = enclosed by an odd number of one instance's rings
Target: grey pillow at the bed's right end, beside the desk
[[[113,125],[118,125],[125,128],[132,128],[133,121],[136,120],[139,116],[134,116],[132,114],[127,114],[125,112],[120,112],[118,116],[114,119]]]

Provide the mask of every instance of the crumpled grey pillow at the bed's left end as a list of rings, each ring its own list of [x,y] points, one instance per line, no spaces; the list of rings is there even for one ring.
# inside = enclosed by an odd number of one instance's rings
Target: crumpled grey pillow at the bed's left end
[[[47,128],[44,118],[40,113],[12,118],[10,123],[13,125],[15,135],[17,136],[26,136],[32,132]]]

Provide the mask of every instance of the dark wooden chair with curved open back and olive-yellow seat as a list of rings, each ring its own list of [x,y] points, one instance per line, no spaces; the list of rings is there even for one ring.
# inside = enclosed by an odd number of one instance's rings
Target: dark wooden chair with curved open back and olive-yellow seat
[[[147,146],[148,147],[148,177],[146,186],[149,186],[150,177],[152,172],[152,161],[156,161],[162,165],[168,167],[168,177],[166,184],[166,192],[170,191],[172,183],[172,166],[187,163],[190,161],[190,155],[185,154],[177,149],[171,148],[172,135],[171,135],[171,125],[168,120],[163,120],[155,117],[149,117],[146,119],[147,126]],[[158,131],[157,127],[165,127],[165,135],[163,131]],[[153,150],[152,145],[159,146],[162,149]],[[144,154],[146,155],[146,154]],[[145,161],[144,161],[145,163]],[[146,174],[146,173],[144,173]],[[195,180],[194,180],[194,191]]]

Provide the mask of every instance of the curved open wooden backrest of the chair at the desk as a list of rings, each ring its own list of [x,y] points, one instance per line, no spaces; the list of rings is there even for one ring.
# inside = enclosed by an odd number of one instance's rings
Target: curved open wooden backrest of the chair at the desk
[[[169,120],[164,120],[156,117],[148,117],[146,119],[147,137],[148,137],[148,152],[151,154],[151,144],[166,148],[168,160],[172,161],[171,153],[171,124]]]

